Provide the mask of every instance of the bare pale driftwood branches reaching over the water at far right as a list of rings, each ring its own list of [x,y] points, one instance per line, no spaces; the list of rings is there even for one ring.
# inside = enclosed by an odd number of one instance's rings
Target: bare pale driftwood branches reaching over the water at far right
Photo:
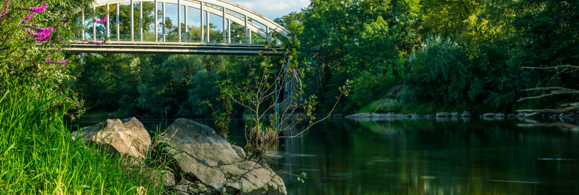
[[[549,67],[522,67],[523,69],[532,69],[532,70],[556,70],[559,73],[571,73],[579,70],[579,66],[571,66],[571,65],[560,65],[560,66],[549,66]],[[579,90],[577,89],[567,89],[563,87],[537,87],[532,89],[523,89],[524,92],[532,92],[532,91],[550,91],[544,95],[532,96],[527,98],[521,98],[516,102],[521,102],[523,100],[529,99],[540,99],[549,96],[555,95],[574,95],[579,94]],[[563,104],[559,109],[543,109],[543,110],[517,110],[517,113],[531,113],[526,114],[525,117],[532,117],[537,114],[563,114],[569,113],[571,111],[579,110],[579,103],[571,103],[571,104]]]

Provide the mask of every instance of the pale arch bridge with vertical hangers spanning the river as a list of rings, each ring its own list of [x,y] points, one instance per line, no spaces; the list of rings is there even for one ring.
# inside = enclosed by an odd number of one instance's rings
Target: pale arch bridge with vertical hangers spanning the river
[[[80,16],[82,32],[75,34],[68,51],[258,55],[265,40],[280,43],[279,38],[290,33],[269,18],[223,0],[97,0],[93,7],[94,15]],[[221,27],[210,17],[218,18]]]

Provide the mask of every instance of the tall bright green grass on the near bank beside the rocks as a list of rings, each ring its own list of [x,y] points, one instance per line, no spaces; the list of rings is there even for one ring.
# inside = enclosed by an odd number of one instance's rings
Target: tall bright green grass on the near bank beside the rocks
[[[60,93],[1,79],[0,89],[0,194],[155,193],[123,160],[71,141]]]

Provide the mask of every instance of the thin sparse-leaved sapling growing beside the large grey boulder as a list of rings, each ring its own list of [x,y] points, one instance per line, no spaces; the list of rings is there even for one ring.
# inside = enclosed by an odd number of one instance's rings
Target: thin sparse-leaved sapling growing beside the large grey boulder
[[[265,51],[259,52],[262,62],[259,69],[254,70],[255,77],[248,78],[241,83],[234,83],[227,79],[219,82],[220,92],[225,97],[222,99],[228,99],[233,103],[239,104],[251,113],[251,116],[247,117],[248,124],[245,125],[245,139],[247,140],[245,149],[251,152],[250,157],[246,160],[255,158],[258,163],[261,162],[265,154],[272,149],[273,144],[279,138],[303,136],[312,125],[321,121],[314,121],[316,118],[313,116],[313,111],[316,110],[315,106],[318,103],[316,96],[311,95],[304,100],[301,98],[304,93],[303,89],[307,87],[302,82],[302,78],[309,72],[310,67],[309,62],[300,62],[295,58],[297,54],[296,48],[288,47],[288,45],[299,47],[300,43],[295,37],[291,37],[290,40],[290,44],[284,43],[281,45],[283,50],[281,52],[283,52],[284,58],[279,62],[283,63],[283,66],[275,65],[276,62],[272,61],[272,57],[265,53],[276,54],[279,52],[272,48],[276,45],[276,41],[272,41],[266,44]],[[276,71],[276,68],[279,72]],[[288,83],[295,83],[295,85]],[[287,88],[290,88],[289,91],[291,93],[281,98],[281,93],[286,91]],[[349,95],[349,83],[340,87],[339,91],[341,95],[335,97],[338,101],[343,95]],[[227,107],[228,104],[227,102],[225,103]],[[228,111],[226,109],[226,112]],[[273,114],[269,121],[264,122],[267,115],[272,112]],[[279,136],[282,131],[290,130],[303,121],[299,117],[292,118],[296,115],[299,116],[298,113],[303,113],[309,119],[306,128],[294,136]],[[227,114],[229,113],[225,113],[225,115]],[[328,117],[329,114],[325,118]],[[228,122],[227,119],[221,119],[220,121],[222,123]],[[288,122],[288,125],[282,125],[286,122]],[[222,133],[224,132],[222,131],[220,134]]]

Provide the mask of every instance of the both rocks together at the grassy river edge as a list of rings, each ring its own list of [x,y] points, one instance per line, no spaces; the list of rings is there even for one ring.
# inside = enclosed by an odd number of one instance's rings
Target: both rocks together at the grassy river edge
[[[266,164],[245,160],[242,148],[231,145],[215,130],[189,119],[177,119],[158,141],[170,156],[171,170],[152,175],[177,195],[285,195],[285,185]],[[145,158],[151,137],[136,118],[108,119],[74,133],[75,140],[99,144],[109,152]],[[148,171],[148,168],[129,171]],[[179,173],[179,174],[174,174]],[[159,183],[161,185],[161,183]]]

